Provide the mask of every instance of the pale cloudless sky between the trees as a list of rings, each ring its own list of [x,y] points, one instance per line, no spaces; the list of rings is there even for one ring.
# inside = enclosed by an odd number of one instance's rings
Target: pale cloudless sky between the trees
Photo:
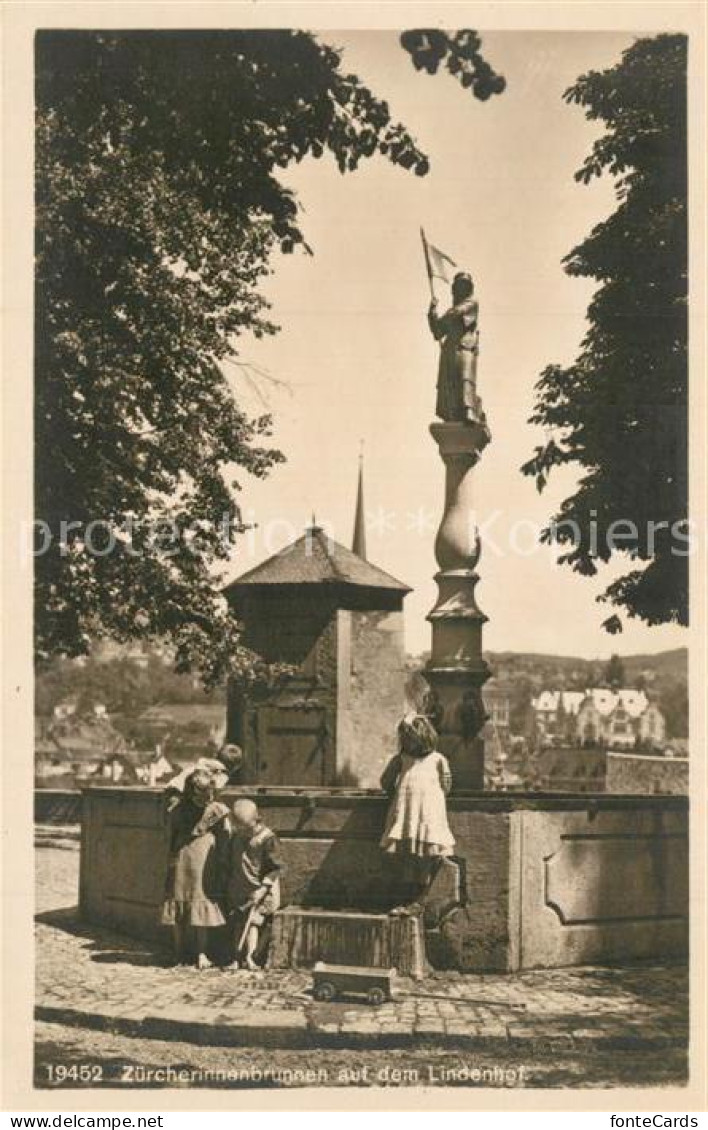
[[[673,625],[629,620],[622,635],[604,632],[612,609],[596,597],[627,559],[593,579],[559,566],[536,531],[572,492],[577,470],[554,472],[541,495],[519,470],[543,441],[527,423],[534,383],[545,365],[577,356],[587,328],[594,284],[566,276],[561,260],[615,207],[610,179],[574,180],[598,127],[562,93],[585,71],[613,66],[635,37],[487,32],[483,54],[507,89],[486,103],[447,72],[414,71],[393,32],[321,38],[388,102],[430,173],[414,176],[377,156],[343,176],[325,159],[283,174],[314,255],[276,258],[264,290],[281,332],[241,342],[243,360],[282,384],[254,386],[238,370],[229,379],[250,409],[265,402],[273,414],[287,462],[262,483],[244,481],[244,515],[257,529],[241,539],[229,577],[298,537],[313,512],[350,546],[362,444],[367,556],[413,590],[408,650],[429,646],[444,468],[428,432],[438,347],[426,320],[422,225],[472,272],[480,304],[478,391],[492,433],[474,471],[484,647],[595,658],[684,645],[685,631]],[[444,289],[439,298],[444,308]]]

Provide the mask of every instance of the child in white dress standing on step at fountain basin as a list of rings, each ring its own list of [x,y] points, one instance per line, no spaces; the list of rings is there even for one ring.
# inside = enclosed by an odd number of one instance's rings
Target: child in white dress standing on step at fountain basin
[[[407,714],[397,732],[399,753],[381,779],[392,796],[381,846],[402,857],[407,878],[418,888],[410,905],[392,913],[419,914],[440,861],[455,847],[445,805],[452,776],[447,758],[435,748],[437,733],[429,719]]]

